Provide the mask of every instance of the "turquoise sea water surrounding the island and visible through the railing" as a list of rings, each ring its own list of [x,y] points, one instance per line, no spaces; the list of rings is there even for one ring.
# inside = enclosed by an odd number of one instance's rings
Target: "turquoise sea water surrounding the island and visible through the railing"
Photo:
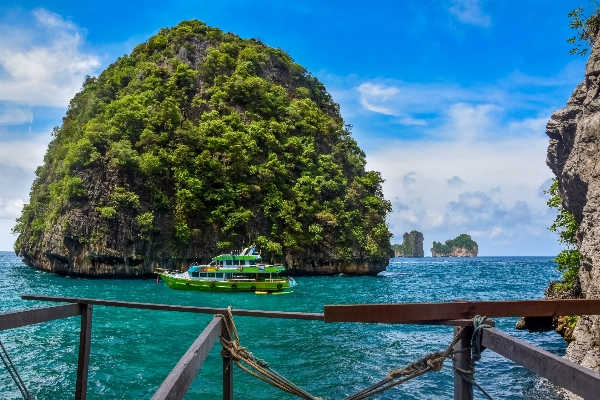
[[[184,292],[154,280],[99,280],[59,277],[25,266],[13,253],[0,252],[0,313],[56,305],[21,300],[23,294],[77,296],[148,303],[239,309],[323,312],[325,304],[451,301],[454,299],[534,299],[556,279],[550,257],[476,259],[392,259],[379,277],[298,277],[298,288],[284,296],[253,293]],[[94,307],[88,399],[149,399],[193,343],[211,315]],[[516,318],[497,319],[497,327],[545,350],[563,355],[556,334],[514,329]],[[236,317],[242,345],[273,369],[325,399],[342,399],[424,354],[445,349],[449,327],[376,324],[325,324],[318,321]],[[38,399],[73,397],[79,318],[0,332],[30,391]],[[217,399],[221,359],[215,346],[186,399]],[[1,365],[0,365],[1,366]],[[496,399],[561,399],[544,379],[501,356],[485,351],[477,381]],[[450,362],[392,389],[378,399],[452,399]],[[239,399],[295,398],[235,370]],[[0,369],[0,398],[19,392]],[[475,393],[476,399],[484,398]]]

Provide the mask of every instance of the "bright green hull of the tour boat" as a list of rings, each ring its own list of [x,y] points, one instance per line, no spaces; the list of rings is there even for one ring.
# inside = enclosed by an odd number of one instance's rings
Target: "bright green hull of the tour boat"
[[[265,281],[208,281],[199,279],[182,279],[159,274],[161,279],[172,289],[200,290],[206,292],[281,292],[291,289],[285,279]]]

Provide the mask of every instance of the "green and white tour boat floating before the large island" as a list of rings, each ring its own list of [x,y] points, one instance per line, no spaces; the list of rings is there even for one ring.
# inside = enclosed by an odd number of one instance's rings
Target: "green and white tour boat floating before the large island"
[[[157,270],[167,286],[208,292],[284,292],[296,286],[291,277],[280,277],[283,265],[261,263],[254,248],[240,254],[221,254],[208,265],[192,265],[186,272]]]

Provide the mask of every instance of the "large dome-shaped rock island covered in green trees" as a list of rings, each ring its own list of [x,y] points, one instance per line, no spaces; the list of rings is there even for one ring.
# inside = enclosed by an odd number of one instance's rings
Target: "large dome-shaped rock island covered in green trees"
[[[339,106],[286,52],[184,21],[86,79],[15,250],[151,259],[255,242],[272,257],[385,258],[391,206],[365,165]]]

